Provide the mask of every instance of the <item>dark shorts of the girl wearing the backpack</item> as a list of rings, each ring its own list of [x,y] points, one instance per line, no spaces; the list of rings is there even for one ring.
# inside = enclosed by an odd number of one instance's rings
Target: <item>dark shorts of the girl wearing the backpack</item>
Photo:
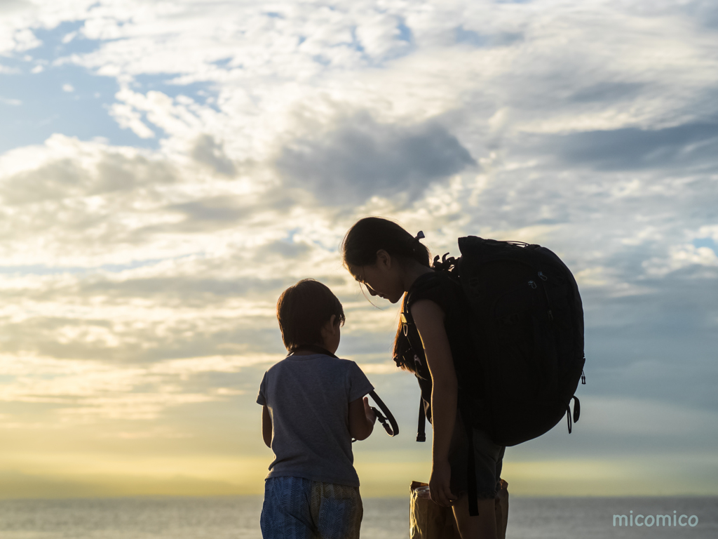
[[[476,466],[477,498],[495,498],[500,490],[501,467],[505,446],[497,446],[488,435],[477,428],[472,428],[474,435],[474,459]],[[449,464],[451,465],[451,492],[460,496],[468,492],[468,457],[469,443],[466,428],[457,413],[454,435],[449,446]]]

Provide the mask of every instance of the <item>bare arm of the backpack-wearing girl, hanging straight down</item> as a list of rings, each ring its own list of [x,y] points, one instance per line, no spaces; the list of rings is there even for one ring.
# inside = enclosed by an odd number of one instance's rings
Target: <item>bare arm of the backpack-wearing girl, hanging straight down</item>
[[[444,311],[431,300],[411,306],[411,316],[424,345],[426,364],[432,374],[432,476],[429,493],[434,502],[449,506],[457,497],[449,489],[449,445],[456,423],[458,382],[451,346],[444,329]]]

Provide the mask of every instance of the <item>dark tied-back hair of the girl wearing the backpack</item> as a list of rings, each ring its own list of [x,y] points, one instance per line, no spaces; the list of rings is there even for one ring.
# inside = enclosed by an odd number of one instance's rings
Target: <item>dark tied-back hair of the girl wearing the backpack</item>
[[[385,250],[399,260],[414,260],[422,266],[432,267],[429,249],[401,226],[381,217],[365,217],[349,229],[342,241],[342,258],[345,266],[370,266],[376,262],[376,252]],[[411,355],[411,357],[409,357]],[[414,372],[414,356],[409,341],[404,338],[399,322],[394,338],[393,359],[397,367]]]

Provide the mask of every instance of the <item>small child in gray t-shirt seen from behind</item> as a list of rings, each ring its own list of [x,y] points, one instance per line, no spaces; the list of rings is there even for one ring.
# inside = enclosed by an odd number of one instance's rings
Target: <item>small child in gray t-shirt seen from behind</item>
[[[358,538],[363,506],[352,438],[374,428],[364,397],[374,387],[354,361],[334,355],[344,311],[325,285],[304,279],[287,288],[276,315],[290,355],[264,373],[257,396],[262,437],[274,451],[262,537]]]

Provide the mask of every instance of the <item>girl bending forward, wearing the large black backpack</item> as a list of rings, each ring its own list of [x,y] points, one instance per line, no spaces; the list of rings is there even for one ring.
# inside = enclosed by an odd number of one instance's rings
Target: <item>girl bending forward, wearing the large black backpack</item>
[[[461,383],[475,380],[470,371],[476,352],[461,285],[434,272],[429,250],[396,223],[383,218],[360,219],[342,245],[345,267],[363,283],[371,295],[397,303],[411,290],[409,312],[414,323],[396,333],[395,361],[416,374],[432,421],[431,498],[452,506],[464,539],[495,539],[505,534],[505,521],[495,521],[495,499],[500,491],[500,473],[505,447],[470,425],[466,428],[458,412]],[[454,362],[461,357],[467,361]],[[428,369],[427,369],[428,367]],[[468,367],[468,368],[467,368]],[[469,382],[471,383],[471,382]],[[463,394],[465,395],[465,394]],[[469,438],[474,446],[478,517],[470,517],[467,482]]]

